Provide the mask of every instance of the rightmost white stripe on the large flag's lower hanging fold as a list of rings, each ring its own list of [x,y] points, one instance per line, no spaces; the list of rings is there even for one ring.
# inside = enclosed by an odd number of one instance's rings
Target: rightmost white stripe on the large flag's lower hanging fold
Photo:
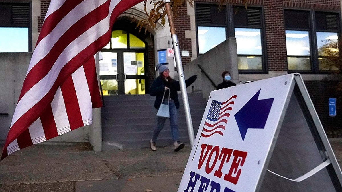
[[[90,91],[87,83],[86,74],[84,73],[83,66],[78,68],[73,74],[74,86],[76,89],[76,96],[78,100],[78,105],[80,107],[82,120],[86,121],[92,119],[92,103],[90,97]]]

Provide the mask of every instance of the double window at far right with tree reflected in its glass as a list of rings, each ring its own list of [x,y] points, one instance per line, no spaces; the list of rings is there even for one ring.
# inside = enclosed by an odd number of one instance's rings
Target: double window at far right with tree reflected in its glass
[[[339,52],[338,14],[297,10],[285,10],[284,14],[288,70],[336,70],[330,58]]]

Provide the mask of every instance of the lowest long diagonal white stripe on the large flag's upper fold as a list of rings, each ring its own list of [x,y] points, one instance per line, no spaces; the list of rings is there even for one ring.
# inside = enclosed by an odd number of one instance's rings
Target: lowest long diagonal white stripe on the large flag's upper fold
[[[108,26],[108,27],[103,27]],[[11,126],[30,108],[37,104],[51,89],[58,74],[69,60],[74,58],[88,45],[96,41],[104,35],[109,29],[109,17],[106,17],[88,31],[80,35],[76,40],[71,42],[62,54],[58,57],[49,73],[38,83],[36,83],[28,92],[26,92],[21,100],[19,100],[13,115]]]

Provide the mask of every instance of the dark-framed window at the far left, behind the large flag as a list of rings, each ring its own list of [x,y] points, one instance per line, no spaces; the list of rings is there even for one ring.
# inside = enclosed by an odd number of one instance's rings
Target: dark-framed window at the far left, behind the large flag
[[[0,52],[32,51],[30,3],[0,3]]]

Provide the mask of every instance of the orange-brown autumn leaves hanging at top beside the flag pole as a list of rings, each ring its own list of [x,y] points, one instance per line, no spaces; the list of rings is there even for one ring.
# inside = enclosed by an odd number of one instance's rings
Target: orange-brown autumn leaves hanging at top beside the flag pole
[[[228,3],[229,0],[220,0],[220,6]],[[147,3],[152,4],[151,10],[147,10]],[[247,0],[235,0],[234,3],[241,3],[246,6]],[[189,6],[194,6],[193,0],[171,0],[171,9],[174,17],[177,17],[177,11],[179,8],[186,7],[187,4]],[[154,29],[157,26],[158,21],[160,20],[160,24],[162,26],[165,25],[165,15],[167,15],[164,1],[163,0],[144,0],[144,11],[147,16],[145,19],[141,19],[137,27],[139,31],[144,27],[145,29]],[[145,31],[146,32],[146,31]]]

